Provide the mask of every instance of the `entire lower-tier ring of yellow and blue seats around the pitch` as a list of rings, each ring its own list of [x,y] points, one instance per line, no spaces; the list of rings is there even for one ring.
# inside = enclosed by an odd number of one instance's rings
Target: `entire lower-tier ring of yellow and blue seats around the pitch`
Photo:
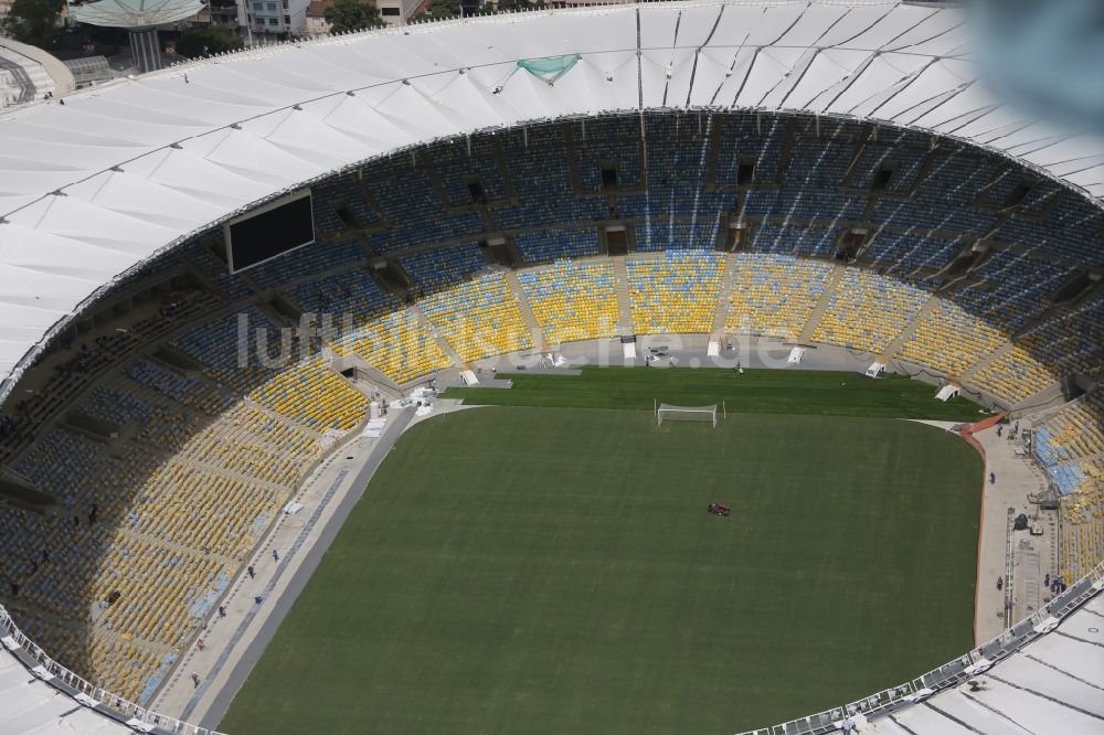
[[[716,319],[729,267],[725,328],[796,339],[842,266],[697,249],[629,256],[627,284],[616,283],[608,259],[556,262],[519,280],[550,343],[613,335],[620,288],[639,332],[700,334]],[[410,306],[382,297],[359,268],[296,283],[288,292],[304,306],[352,313],[335,335],[335,351],[400,384],[450,366],[449,345],[465,361],[530,347],[521,305],[501,274],[442,285]],[[1100,370],[1096,302],[1086,303],[1070,318],[1053,307],[1049,320],[1029,331],[1030,342],[1009,347],[1006,333],[945,295],[849,269],[814,339],[875,351],[907,324],[914,330],[902,356],[965,374],[1015,402],[1072,368]],[[242,312],[253,328],[277,329],[269,307]],[[120,352],[119,364],[105,359],[104,373],[74,393],[79,397],[72,405],[66,400],[65,412],[43,412],[52,423],[35,429],[33,445],[11,454],[11,468],[55,493],[60,509],[47,516],[0,513],[0,601],[66,665],[128,697],[149,697],[323,456],[328,435],[352,429],[367,412],[365,398],[321,358],[301,355],[301,345],[291,344],[293,359],[273,366],[240,368],[237,329],[231,313],[172,332],[169,343],[194,358],[195,370],[170,368],[145,345],[148,356],[134,359],[135,350]],[[279,340],[269,341],[272,354]],[[251,354],[256,345],[251,334]],[[77,430],[66,424],[70,413],[109,425],[116,436]],[[3,419],[0,429],[18,424],[10,411]],[[1069,533],[1061,554],[1069,578],[1104,551],[1102,427],[1100,394],[1037,425],[1040,461],[1064,498]]]

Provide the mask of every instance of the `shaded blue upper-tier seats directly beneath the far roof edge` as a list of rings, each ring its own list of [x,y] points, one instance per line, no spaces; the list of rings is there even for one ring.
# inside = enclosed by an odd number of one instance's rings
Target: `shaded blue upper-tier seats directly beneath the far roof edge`
[[[983,151],[932,148],[928,139],[911,131],[881,130],[871,139],[869,126],[857,121],[811,124],[804,117],[732,114],[700,122],[657,116],[644,121],[648,145],[641,166],[640,129],[638,117],[617,117],[588,120],[585,130],[567,122],[500,131],[497,143],[475,137],[470,149],[443,141],[414,159],[400,155],[365,169],[364,185],[379,200],[382,219],[355,181],[318,188],[316,216],[322,230],[337,227],[332,201],[373,225],[385,222],[383,231],[365,235],[368,246],[382,253],[477,242],[488,231],[520,234],[522,241],[556,225],[586,233],[578,241],[567,238],[577,243],[571,252],[551,245],[551,252],[541,253],[545,246],[540,243],[519,245],[527,263],[538,263],[594,254],[588,241],[595,223],[611,216],[628,221],[637,248],[647,252],[672,244],[710,247],[722,215],[742,214],[766,217],[755,227],[756,251],[830,256],[840,228],[862,220],[874,174],[892,163],[885,194],[866,223],[873,225],[873,239],[863,257],[894,273],[936,270],[957,248],[987,236],[1038,248],[1068,265],[1104,264],[1094,239],[1104,228],[1104,213],[1041,182],[1025,200],[1022,213],[1000,216],[1002,198],[1023,172]],[[754,161],[753,188],[735,193],[739,168],[747,159]],[[619,187],[599,191],[601,167],[608,163],[618,170]],[[468,206],[468,184],[475,181],[489,200],[490,223]],[[463,206],[449,211],[449,204]],[[990,235],[994,227],[998,230]],[[350,257],[359,255],[350,249]],[[202,267],[217,274],[225,269],[217,263]]]

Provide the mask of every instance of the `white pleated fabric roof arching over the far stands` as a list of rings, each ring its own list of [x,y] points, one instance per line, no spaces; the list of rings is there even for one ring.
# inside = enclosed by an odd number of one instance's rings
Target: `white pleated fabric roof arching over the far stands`
[[[1101,203],[1104,139],[989,94],[965,20],[877,0],[540,11],[245,52],[20,109],[0,118],[0,380],[114,276],[215,220],[367,158],[527,120],[641,106],[868,117],[1015,156]],[[553,86],[511,76],[519,60],[572,53]]]

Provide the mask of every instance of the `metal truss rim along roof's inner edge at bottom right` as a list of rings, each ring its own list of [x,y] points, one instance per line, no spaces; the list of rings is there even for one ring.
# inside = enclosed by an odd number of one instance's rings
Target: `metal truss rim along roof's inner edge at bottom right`
[[[1063,618],[1078,610],[1086,600],[1104,590],[1104,562],[1098,563],[1089,574],[1042,606],[1034,615],[1005,629],[992,640],[981,643],[965,656],[948,661],[938,669],[928,671],[910,682],[887,689],[861,700],[832,710],[798,717],[781,725],[749,729],[739,735],[819,735],[839,731],[837,723],[845,717],[863,714],[877,717],[889,714],[934,694],[959,686],[968,679],[985,673],[1001,660],[1016,653],[1028,643],[1051,632]]]

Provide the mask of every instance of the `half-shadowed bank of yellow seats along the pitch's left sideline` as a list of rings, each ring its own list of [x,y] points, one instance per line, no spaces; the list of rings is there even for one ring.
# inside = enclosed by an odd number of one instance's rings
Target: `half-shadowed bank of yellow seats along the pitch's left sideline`
[[[214,415],[185,405],[145,382],[151,370],[131,363],[76,406],[103,416],[104,396],[126,395],[117,437],[54,427],[19,464],[60,512],[0,513],[6,606],[67,667],[139,702],[326,446],[230,393]]]

